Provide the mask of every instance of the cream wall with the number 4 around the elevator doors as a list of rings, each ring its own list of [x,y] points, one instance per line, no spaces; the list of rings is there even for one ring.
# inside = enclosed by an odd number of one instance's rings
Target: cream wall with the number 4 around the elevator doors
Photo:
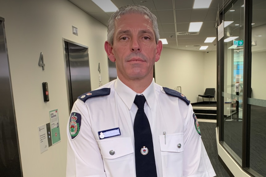
[[[62,38],[89,47],[92,89],[108,82],[104,42],[107,28],[67,0],[0,0],[13,86],[19,146],[25,177],[65,176],[66,126],[69,117]],[[72,25],[78,36],[72,34]],[[38,66],[44,53],[45,70]],[[42,82],[48,82],[50,101],[44,103]],[[48,123],[58,109],[61,142],[40,154],[37,127]]]

